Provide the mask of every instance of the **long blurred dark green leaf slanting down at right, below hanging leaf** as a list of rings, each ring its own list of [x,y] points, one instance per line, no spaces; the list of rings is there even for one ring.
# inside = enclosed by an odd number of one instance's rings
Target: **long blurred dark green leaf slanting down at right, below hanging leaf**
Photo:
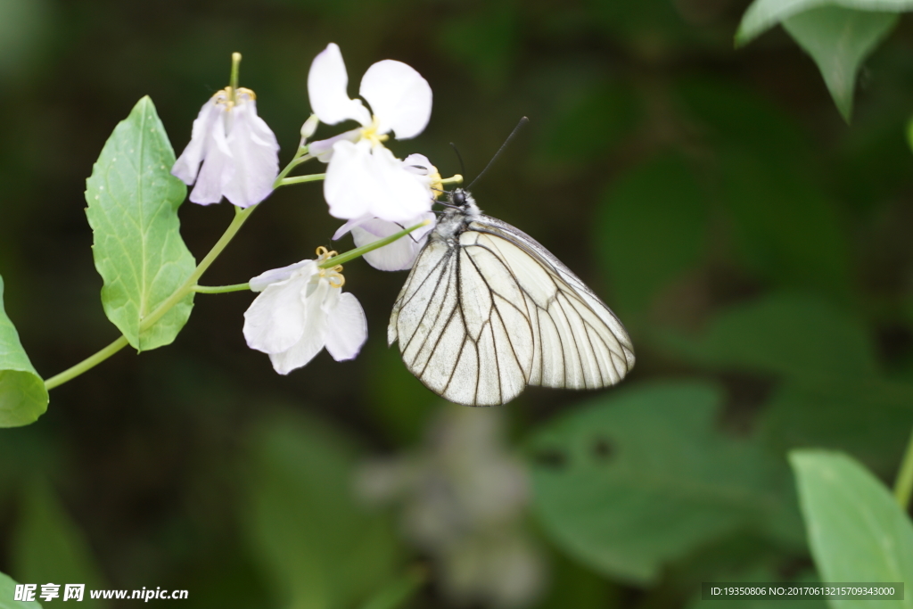
[[[774,285],[845,299],[850,248],[834,202],[814,176],[805,128],[774,104],[727,84],[678,87],[714,148],[737,252]]]

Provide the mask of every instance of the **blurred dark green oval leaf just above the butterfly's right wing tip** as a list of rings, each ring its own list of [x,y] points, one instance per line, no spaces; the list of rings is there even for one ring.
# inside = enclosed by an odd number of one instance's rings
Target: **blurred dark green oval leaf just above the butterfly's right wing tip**
[[[684,159],[666,155],[619,178],[603,196],[594,238],[624,314],[643,314],[658,290],[698,264],[707,196]]]

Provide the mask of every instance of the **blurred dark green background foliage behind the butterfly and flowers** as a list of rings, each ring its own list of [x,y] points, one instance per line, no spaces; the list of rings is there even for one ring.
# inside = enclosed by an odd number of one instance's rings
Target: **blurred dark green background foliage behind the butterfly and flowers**
[[[431,122],[392,147],[444,175],[449,142],[471,179],[530,117],[478,203],[601,294],[638,358],[599,394],[468,409],[386,348],[404,273],[347,265],[362,355],[288,377],[247,349],[250,294],[199,295],[172,346],[0,430],[0,571],[187,589],[187,609],[343,609],[414,581],[416,608],[646,609],[813,578],[786,450],[890,483],[913,425],[913,29],[866,63],[848,126],[780,28],[733,49],[747,5],[0,0],[0,273],[46,378],[117,337],[82,198],[115,124],[150,95],[180,152],[240,51],[288,162],[331,41],[352,94],[383,58],[425,76]],[[197,258],[232,214],[184,205]],[[205,283],[312,257],[340,224],[319,184],[284,188]]]

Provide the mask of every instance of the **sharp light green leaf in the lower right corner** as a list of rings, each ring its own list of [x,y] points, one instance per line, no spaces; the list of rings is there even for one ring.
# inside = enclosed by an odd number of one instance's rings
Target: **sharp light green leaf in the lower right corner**
[[[823,582],[913,582],[913,525],[890,491],[854,459],[794,450],[808,541]],[[902,606],[913,607],[905,594]],[[832,601],[833,607],[880,607],[883,601]]]

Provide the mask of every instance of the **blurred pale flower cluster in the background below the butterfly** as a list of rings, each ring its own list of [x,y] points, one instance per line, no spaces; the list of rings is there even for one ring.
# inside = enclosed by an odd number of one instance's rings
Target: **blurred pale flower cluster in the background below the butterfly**
[[[399,501],[405,535],[436,562],[455,606],[525,607],[546,580],[525,523],[527,472],[504,439],[503,413],[446,404],[419,451],[366,464],[355,480],[362,499]]]

